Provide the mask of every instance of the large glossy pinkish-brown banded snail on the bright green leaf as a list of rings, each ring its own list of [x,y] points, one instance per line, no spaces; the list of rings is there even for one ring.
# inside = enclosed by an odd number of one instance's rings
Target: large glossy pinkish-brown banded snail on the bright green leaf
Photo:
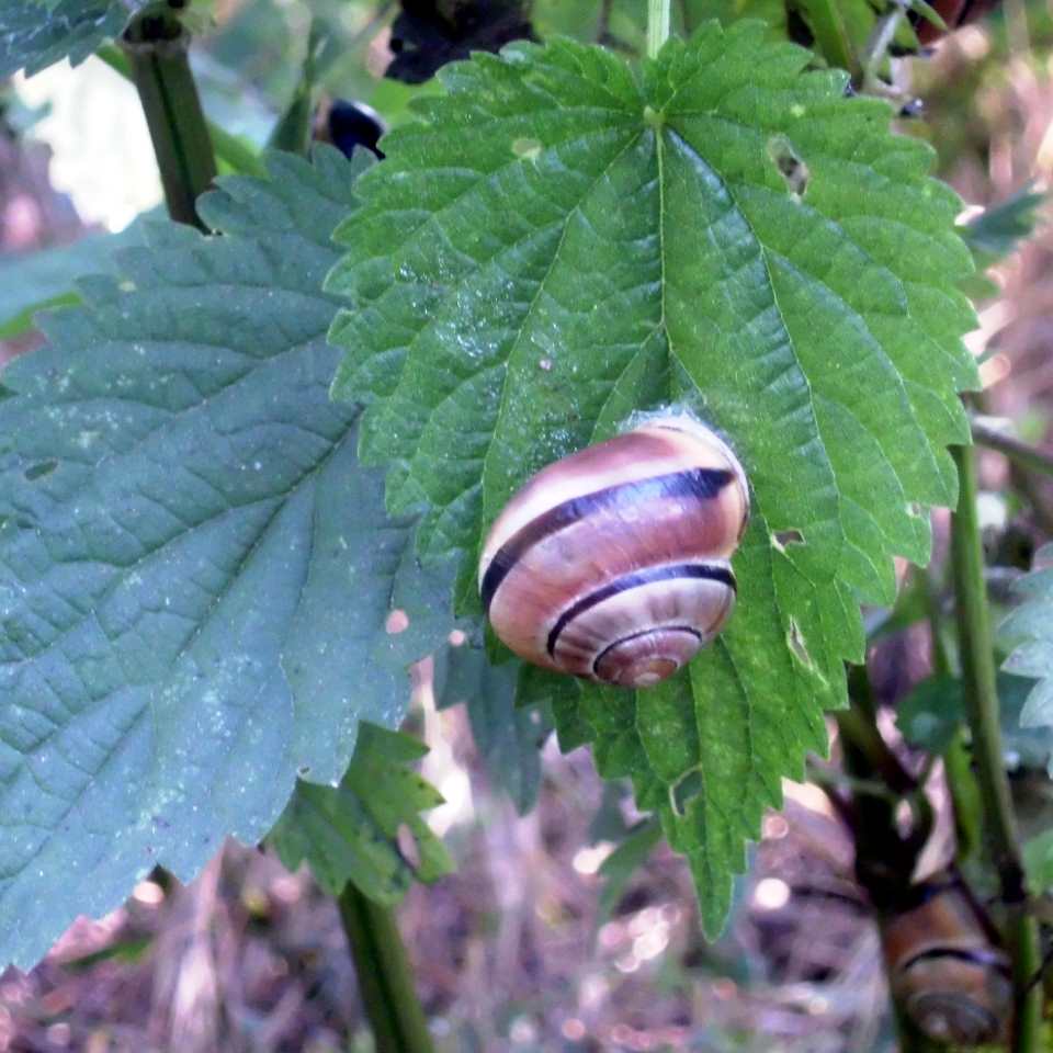
[[[693,418],[652,418],[550,464],[511,498],[483,546],[483,605],[534,665],[649,687],[727,622],[748,516],[727,444]]]

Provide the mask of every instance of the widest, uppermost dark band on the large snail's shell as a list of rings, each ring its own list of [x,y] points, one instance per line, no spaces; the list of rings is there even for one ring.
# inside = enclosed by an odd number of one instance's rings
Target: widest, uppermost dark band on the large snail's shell
[[[530,548],[586,516],[597,510],[618,511],[620,508],[629,508],[641,501],[659,498],[692,497],[698,501],[707,501],[716,497],[734,479],[735,475],[723,468],[690,468],[684,472],[671,472],[668,475],[656,475],[649,479],[620,483],[556,505],[513,534],[494,554],[483,576],[483,587],[479,590],[484,611],[489,614],[490,602],[500,584]],[[734,580],[731,584],[734,588]],[[552,647],[548,652],[552,653]]]

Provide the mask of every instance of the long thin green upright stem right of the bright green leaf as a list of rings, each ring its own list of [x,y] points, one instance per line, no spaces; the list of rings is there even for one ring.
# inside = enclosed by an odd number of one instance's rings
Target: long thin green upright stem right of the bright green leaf
[[[977,781],[1001,885],[1001,899],[1007,912],[1007,943],[1012,954],[1017,996],[1011,1049],[1014,1053],[1039,1053],[1041,993],[1037,988],[1028,990],[1029,981],[1039,967],[1038,929],[1027,912],[1016,815],[1003,762],[994,647],[976,511],[976,452],[973,446],[953,446],[952,453],[958,466],[960,489],[958,510],[951,521],[959,650]]]

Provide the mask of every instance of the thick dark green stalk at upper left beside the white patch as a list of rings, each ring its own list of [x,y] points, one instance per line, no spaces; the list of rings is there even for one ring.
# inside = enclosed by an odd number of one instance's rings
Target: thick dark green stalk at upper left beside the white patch
[[[204,230],[196,202],[216,178],[216,159],[190,70],[189,44],[190,35],[174,14],[144,14],[122,39],[150,129],[168,214]]]

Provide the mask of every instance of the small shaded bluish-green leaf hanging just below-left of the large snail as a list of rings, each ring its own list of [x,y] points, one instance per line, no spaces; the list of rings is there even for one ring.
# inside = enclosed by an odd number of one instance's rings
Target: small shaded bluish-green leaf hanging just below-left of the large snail
[[[463,703],[491,781],[525,815],[537,803],[541,747],[552,724],[544,705],[517,707],[519,663],[491,666],[482,646],[448,646],[435,656],[435,706]]]

